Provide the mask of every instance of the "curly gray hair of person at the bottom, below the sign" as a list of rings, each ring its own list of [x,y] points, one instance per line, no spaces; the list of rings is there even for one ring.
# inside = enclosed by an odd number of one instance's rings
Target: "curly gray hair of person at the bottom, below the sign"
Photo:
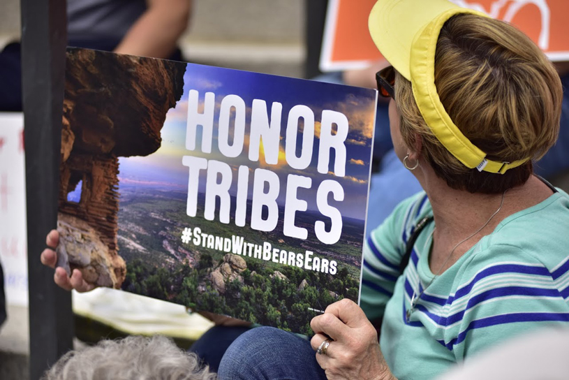
[[[103,340],[96,346],[62,356],[43,380],[214,380],[195,353],[179,349],[172,340],[132,336]]]

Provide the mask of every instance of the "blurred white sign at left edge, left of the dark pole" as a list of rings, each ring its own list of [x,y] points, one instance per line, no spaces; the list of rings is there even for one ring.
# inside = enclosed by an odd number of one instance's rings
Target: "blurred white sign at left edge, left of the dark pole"
[[[0,112],[0,262],[8,305],[28,305],[24,115]]]

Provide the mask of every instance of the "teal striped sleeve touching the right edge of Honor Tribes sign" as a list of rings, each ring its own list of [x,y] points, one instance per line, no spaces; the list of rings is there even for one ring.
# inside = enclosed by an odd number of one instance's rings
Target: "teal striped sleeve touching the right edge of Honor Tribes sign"
[[[419,193],[399,203],[364,242],[360,307],[370,321],[383,317],[385,304],[393,295],[395,283],[401,275],[399,264],[406,240],[426,198],[424,193]]]

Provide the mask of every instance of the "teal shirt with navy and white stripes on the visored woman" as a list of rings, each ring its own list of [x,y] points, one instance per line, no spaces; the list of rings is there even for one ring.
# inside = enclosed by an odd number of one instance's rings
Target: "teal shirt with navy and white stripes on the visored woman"
[[[383,317],[380,346],[398,379],[432,379],[473,353],[519,333],[569,328],[569,196],[554,193],[505,218],[421,295],[434,274],[431,222],[403,275],[399,263],[420,219],[432,215],[424,192],[404,200],[364,244],[360,305]]]

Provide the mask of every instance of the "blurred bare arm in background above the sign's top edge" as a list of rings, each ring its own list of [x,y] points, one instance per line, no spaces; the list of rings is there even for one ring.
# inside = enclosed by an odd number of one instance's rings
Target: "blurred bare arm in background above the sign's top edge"
[[[191,15],[192,0],[147,0],[148,9],[114,49],[120,54],[168,58]]]

